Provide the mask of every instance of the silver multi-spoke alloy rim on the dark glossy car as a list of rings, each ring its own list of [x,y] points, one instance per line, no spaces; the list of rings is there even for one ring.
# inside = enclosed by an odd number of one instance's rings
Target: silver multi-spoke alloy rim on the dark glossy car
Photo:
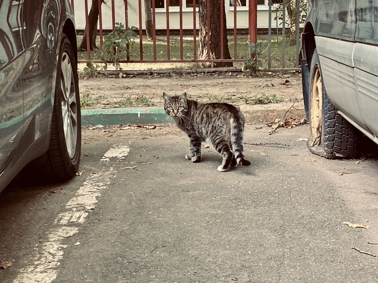
[[[60,72],[60,95],[64,137],[66,140],[68,155],[70,158],[73,158],[77,142],[77,102],[72,64],[67,52],[64,52],[62,55]]]

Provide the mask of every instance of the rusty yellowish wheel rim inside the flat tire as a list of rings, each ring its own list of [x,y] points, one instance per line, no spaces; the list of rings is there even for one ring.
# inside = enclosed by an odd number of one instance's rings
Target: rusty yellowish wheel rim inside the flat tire
[[[323,111],[323,92],[322,78],[319,66],[315,66],[313,79],[311,82],[311,134],[313,136],[313,144],[311,146],[319,146],[322,133],[322,111]]]

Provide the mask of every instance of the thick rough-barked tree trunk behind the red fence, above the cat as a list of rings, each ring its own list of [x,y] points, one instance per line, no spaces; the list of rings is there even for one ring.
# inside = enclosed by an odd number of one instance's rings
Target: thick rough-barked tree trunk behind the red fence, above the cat
[[[208,59],[210,52],[211,59],[220,59],[220,0],[210,1],[210,51],[208,51],[208,30],[206,16],[206,0],[200,1],[198,17],[200,20],[200,45],[198,48],[198,59]],[[223,59],[231,59],[228,49],[226,12],[223,9]],[[200,63],[203,68],[232,67],[232,62]]]

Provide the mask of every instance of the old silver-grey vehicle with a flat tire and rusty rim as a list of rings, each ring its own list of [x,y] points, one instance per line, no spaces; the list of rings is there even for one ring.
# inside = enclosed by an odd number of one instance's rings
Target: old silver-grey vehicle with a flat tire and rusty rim
[[[378,144],[378,0],[308,0],[302,85],[308,148],[354,157],[361,132]]]

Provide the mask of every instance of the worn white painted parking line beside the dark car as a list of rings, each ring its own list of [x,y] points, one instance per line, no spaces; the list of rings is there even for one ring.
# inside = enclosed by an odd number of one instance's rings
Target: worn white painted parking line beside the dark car
[[[101,161],[110,159],[124,159],[130,151],[129,146],[114,145],[101,158]],[[36,252],[31,255],[30,263],[20,270],[20,274],[13,283],[51,283],[59,270],[60,260],[63,258],[64,248],[62,241],[76,234],[79,225],[84,223],[88,213],[96,207],[97,198],[101,196],[101,191],[107,188],[110,178],[114,178],[116,170],[106,166],[104,173],[91,174],[83,183],[74,197],[65,205],[67,211],[58,215],[53,223],[53,228],[47,233],[47,241],[35,248]]]

